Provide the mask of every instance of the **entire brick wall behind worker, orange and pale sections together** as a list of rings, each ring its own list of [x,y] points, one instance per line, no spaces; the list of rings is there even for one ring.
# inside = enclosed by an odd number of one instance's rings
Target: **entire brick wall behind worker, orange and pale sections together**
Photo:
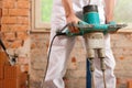
[[[30,4],[31,0],[0,0],[0,8],[2,9],[0,36],[10,53],[19,55],[18,63],[23,72],[28,70],[31,53],[31,88],[40,88],[46,67],[50,33],[32,33],[29,35],[31,30]],[[117,61],[118,87],[128,88],[128,84],[131,86],[131,82],[128,81],[132,80],[132,34],[119,33],[112,34],[111,37]],[[68,69],[64,78],[67,88],[85,88],[85,52],[78,38],[68,61]]]

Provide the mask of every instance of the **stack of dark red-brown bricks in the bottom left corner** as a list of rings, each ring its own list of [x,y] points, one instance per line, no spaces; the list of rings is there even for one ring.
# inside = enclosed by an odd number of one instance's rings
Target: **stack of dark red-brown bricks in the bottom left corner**
[[[20,68],[20,65],[11,66],[6,53],[0,52],[0,88],[26,88],[28,74]]]

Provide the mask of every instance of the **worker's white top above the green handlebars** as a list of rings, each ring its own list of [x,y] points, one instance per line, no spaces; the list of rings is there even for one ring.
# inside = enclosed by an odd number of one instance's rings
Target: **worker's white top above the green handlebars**
[[[100,22],[105,22],[105,11],[103,11],[103,0],[72,0],[73,9],[78,18],[82,16],[82,8],[88,4],[97,4]],[[62,0],[53,1],[53,12],[52,12],[52,29],[63,28],[66,24],[65,10],[62,4]]]

